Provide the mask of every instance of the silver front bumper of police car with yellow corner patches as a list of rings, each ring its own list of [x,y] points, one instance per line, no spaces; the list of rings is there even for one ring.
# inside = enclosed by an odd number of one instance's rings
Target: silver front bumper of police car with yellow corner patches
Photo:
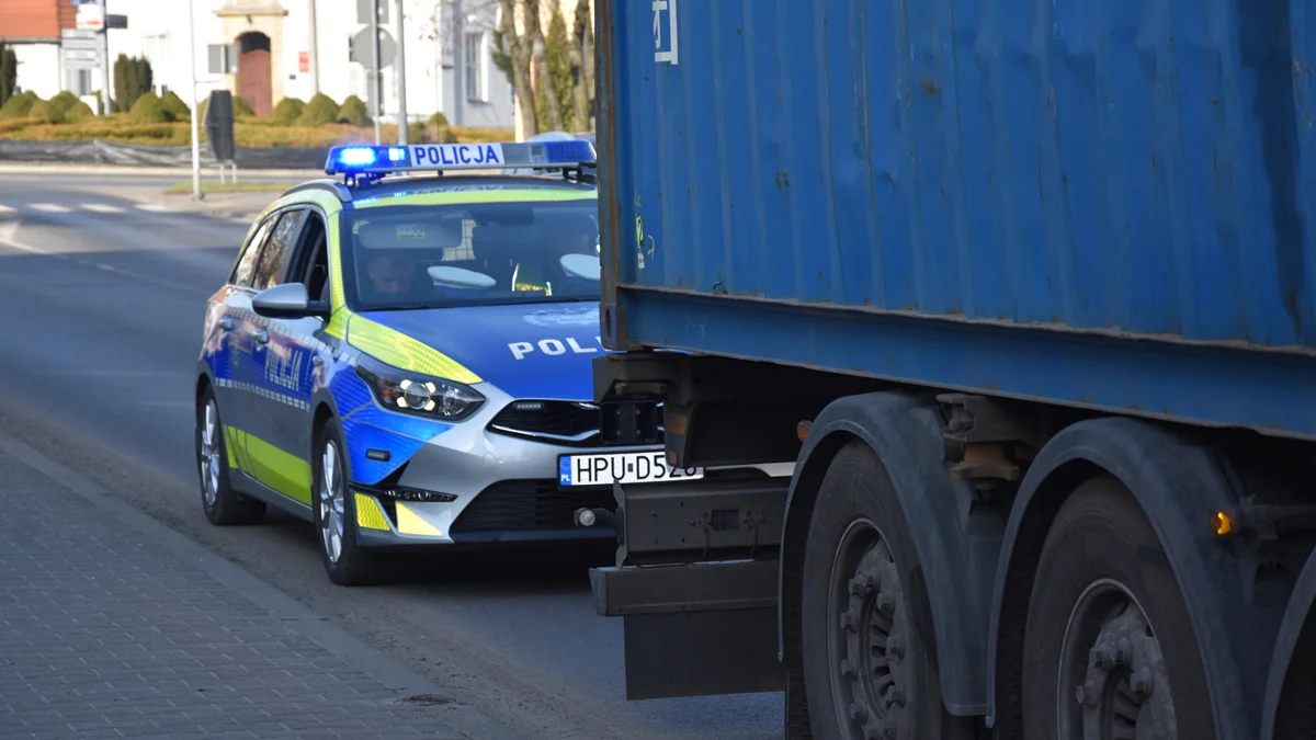
[[[357,504],[357,541],[368,548],[530,544],[553,541],[616,542],[603,523],[576,527],[583,507],[616,511],[611,486],[559,486],[563,454],[642,452],[654,448],[580,448],[516,437],[488,429],[511,399],[494,388],[475,417],[421,446],[395,481],[396,489],[441,494],[451,500],[407,500],[378,487],[351,486]],[[501,398],[499,398],[501,396]],[[692,485],[720,481],[788,478],[794,465],[746,466],[705,471]]]

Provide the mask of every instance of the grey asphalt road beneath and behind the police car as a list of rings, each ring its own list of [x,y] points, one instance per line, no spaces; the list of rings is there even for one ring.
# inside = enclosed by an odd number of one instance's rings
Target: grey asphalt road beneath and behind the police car
[[[311,527],[211,527],[192,381],[203,308],[242,224],[147,211],[170,176],[0,178],[0,428],[407,661],[536,739],[776,739],[782,695],[626,702],[621,621],[596,616],[599,556],[408,562],[332,586]]]

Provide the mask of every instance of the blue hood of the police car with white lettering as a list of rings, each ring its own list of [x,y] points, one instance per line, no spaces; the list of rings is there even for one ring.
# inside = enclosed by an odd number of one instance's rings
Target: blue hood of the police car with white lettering
[[[597,303],[370,311],[362,316],[425,342],[513,398],[594,398],[591,361],[604,353]]]

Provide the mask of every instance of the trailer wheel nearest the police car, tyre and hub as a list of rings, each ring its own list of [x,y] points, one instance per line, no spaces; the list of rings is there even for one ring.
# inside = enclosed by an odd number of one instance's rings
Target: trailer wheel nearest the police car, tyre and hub
[[[842,449],[813,506],[801,627],[819,740],[971,737],[942,708],[932,615],[900,503],[863,444]]]

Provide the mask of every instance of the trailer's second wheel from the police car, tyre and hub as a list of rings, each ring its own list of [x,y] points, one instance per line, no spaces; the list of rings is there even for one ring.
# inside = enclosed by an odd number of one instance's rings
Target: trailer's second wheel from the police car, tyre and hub
[[[1115,478],[1083,483],[1057,514],[1024,635],[1026,740],[1216,736],[1179,583]]]

